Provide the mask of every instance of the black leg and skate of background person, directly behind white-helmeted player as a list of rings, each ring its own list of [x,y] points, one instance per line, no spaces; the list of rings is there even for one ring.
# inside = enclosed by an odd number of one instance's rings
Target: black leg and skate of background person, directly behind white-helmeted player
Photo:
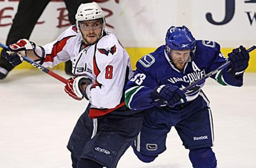
[[[76,15],[78,6],[80,4],[90,3],[92,1],[91,0],[64,0],[64,2],[68,9],[68,19],[72,25],[75,25],[76,24],[75,15]],[[73,75],[72,74],[72,63],[70,60],[65,63],[65,72],[68,75]]]

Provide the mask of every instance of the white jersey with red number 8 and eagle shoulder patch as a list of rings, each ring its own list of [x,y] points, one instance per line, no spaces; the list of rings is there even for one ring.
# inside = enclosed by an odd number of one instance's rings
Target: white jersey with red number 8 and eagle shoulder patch
[[[57,40],[42,47],[43,66],[52,68],[70,59],[73,74],[92,79],[93,84],[86,88],[91,103],[90,117],[125,106],[124,87],[133,73],[129,55],[112,32],[104,29],[97,43],[86,46],[76,26],[71,26]]]

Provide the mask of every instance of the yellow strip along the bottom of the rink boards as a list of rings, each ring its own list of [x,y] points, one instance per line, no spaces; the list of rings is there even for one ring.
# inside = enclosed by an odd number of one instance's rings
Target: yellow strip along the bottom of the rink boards
[[[131,64],[132,69],[135,69],[136,62],[143,56],[148,53],[153,52],[156,48],[137,48],[137,47],[127,47],[125,48],[128,54],[131,57]],[[1,51],[1,48],[0,48]],[[221,52],[223,55],[228,55],[229,52],[232,51],[232,48],[222,48]],[[246,72],[256,72],[256,50],[250,53],[250,62],[249,67],[246,69]],[[54,69],[64,69],[65,64],[60,63],[59,65],[55,66]],[[15,67],[15,69],[31,69],[34,68],[33,66],[29,65],[27,62],[20,64],[19,66]]]

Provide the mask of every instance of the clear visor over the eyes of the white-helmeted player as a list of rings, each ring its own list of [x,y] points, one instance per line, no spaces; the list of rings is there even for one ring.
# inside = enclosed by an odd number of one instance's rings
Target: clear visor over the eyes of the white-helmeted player
[[[93,31],[98,30],[103,27],[103,24],[100,19],[89,20],[89,21],[79,21],[79,27],[81,31]]]

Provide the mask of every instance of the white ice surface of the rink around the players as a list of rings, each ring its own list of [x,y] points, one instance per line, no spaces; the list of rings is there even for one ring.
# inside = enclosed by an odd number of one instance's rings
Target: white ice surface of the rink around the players
[[[66,145],[87,102],[68,97],[63,87],[38,70],[14,70],[0,81],[0,167],[71,168]],[[256,168],[256,73],[246,73],[241,88],[208,79],[204,92],[211,100],[218,167]],[[175,129],[166,145],[149,164],[129,148],[117,167],[192,167]]]

